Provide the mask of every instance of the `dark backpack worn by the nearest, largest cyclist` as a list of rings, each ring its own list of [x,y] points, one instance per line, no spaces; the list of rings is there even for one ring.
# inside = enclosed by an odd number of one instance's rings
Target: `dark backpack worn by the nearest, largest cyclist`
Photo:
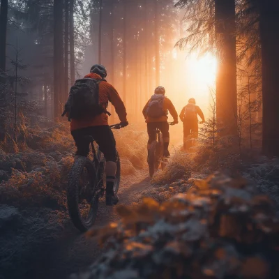
[[[99,103],[99,84],[105,80],[83,78],[77,80],[70,88],[69,97],[65,105],[65,112],[69,112],[68,119],[83,119],[86,116],[97,116],[106,112]]]

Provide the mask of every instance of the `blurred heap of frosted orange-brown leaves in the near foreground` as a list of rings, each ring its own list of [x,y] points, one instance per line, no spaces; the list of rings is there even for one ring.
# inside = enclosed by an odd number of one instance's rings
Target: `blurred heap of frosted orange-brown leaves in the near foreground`
[[[279,219],[244,179],[215,174],[186,195],[151,198],[89,236],[110,249],[79,279],[278,278]]]

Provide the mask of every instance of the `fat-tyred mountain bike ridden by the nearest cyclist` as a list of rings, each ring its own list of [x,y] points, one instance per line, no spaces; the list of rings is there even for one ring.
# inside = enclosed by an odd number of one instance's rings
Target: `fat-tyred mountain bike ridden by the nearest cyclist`
[[[120,129],[120,124],[110,126]],[[93,160],[80,157],[70,170],[67,189],[67,204],[70,219],[80,232],[86,232],[94,223],[99,200],[105,195],[105,158],[94,139],[86,137],[90,143]],[[117,194],[121,179],[121,165],[117,153],[114,193]]]

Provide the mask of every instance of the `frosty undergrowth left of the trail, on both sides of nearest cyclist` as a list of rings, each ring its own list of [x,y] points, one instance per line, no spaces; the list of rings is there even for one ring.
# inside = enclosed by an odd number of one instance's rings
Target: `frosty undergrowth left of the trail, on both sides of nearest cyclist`
[[[146,164],[141,142],[146,135],[136,127],[114,133],[121,172],[134,174]],[[0,278],[5,279],[19,278],[40,244],[59,237],[69,221],[66,186],[75,153],[69,124],[26,128],[22,138],[0,146]]]

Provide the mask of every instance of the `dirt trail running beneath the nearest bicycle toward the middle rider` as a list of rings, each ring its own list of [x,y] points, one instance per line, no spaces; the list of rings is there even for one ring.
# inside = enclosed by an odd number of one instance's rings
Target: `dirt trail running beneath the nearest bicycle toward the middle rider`
[[[136,175],[122,179],[119,188],[119,204],[133,204],[140,202],[142,191],[150,186],[147,172],[137,172]],[[105,225],[119,216],[113,208],[100,202],[96,225]],[[82,271],[94,262],[102,250],[93,239],[86,239],[69,224],[61,239],[55,241],[43,250],[33,263],[30,263],[24,278],[28,279],[66,279],[71,273]]]

